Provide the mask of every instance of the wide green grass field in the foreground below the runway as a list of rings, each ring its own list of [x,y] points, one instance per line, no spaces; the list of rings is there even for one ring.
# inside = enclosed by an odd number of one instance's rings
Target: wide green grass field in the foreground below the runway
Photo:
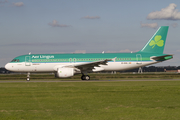
[[[2,120],[178,120],[180,81],[0,83]]]

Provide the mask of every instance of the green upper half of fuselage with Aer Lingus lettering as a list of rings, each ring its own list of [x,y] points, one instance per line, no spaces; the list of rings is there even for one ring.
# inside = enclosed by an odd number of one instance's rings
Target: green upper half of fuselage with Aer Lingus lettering
[[[94,62],[116,57],[116,61],[151,61],[152,56],[162,56],[164,54],[155,53],[86,53],[86,54],[31,54],[22,55],[14,58],[11,62],[29,62],[33,63],[64,63],[64,62]]]

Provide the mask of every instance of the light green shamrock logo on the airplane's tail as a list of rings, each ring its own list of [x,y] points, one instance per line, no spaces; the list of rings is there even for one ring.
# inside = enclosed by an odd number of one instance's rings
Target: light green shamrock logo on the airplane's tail
[[[151,40],[149,45],[153,46],[152,48],[154,48],[156,45],[159,46],[159,47],[162,47],[164,45],[164,40],[161,40],[161,38],[162,38],[161,35],[156,35],[154,37],[154,40]]]

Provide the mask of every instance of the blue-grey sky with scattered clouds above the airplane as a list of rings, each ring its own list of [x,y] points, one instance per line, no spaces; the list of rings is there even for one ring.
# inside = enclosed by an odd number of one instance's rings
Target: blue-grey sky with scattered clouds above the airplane
[[[180,66],[179,0],[0,0],[0,67],[28,53],[137,52],[169,26],[156,66]]]

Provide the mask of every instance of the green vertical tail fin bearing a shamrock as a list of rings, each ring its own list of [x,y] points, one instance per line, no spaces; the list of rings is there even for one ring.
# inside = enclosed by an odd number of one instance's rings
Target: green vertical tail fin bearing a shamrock
[[[139,52],[163,53],[169,26],[161,26]]]

